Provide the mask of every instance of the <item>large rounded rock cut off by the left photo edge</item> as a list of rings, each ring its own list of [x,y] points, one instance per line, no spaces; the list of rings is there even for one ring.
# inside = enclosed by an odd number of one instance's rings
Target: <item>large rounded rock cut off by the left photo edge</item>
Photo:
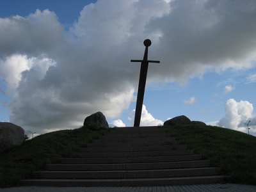
[[[24,129],[12,123],[0,122],[0,153],[22,145],[23,141]]]

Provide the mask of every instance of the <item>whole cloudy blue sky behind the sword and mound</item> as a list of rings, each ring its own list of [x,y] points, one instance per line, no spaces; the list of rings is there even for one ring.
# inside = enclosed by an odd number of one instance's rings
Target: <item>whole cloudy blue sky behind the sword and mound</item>
[[[101,111],[129,127],[175,116],[256,136],[256,1],[0,0],[0,122],[42,134]]]

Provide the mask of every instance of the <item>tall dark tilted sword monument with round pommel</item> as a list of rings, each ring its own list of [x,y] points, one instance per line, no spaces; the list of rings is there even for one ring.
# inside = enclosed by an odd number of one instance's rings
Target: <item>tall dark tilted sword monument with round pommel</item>
[[[160,61],[148,60],[148,47],[151,45],[151,41],[149,39],[146,39],[143,44],[146,47],[143,60],[131,60],[131,62],[141,62],[140,81],[139,81],[139,86],[138,86],[134,127],[140,127],[140,118],[141,118],[141,110],[142,110],[142,106],[143,106],[143,98],[144,98],[144,93],[145,93],[145,85],[146,85],[147,72],[148,72],[148,63],[160,63]]]

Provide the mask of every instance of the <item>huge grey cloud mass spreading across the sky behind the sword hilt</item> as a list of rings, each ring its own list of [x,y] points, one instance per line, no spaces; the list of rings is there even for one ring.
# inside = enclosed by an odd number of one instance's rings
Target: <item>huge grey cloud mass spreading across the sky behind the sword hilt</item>
[[[81,8],[69,31],[49,10],[0,18],[10,122],[40,133],[77,127],[96,111],[117,117],[133,99],[140,66],[130,60],[141,59],[145,38],[152,40],[149,58],[161,61],[150,65],[147,82],[251,68],[255,8],[246,0],[102,0]]]

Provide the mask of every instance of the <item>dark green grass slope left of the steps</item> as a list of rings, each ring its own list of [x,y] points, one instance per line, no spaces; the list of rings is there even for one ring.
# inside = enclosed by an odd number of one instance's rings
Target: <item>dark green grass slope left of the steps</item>
[[[0,187],[19,186],[20,179],[33,177],[33,172],[44,170],[45,164],[56,163],[74,148],[98,138],[105,131],[90,131],[83,127],[55,131],[24,141],[20,147],[0,154]]]

